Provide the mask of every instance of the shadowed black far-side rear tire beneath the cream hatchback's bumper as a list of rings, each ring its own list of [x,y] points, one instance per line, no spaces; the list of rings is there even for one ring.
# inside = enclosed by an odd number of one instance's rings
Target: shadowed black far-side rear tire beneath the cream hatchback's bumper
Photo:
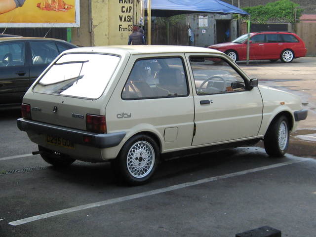
[[[71,158],[65,154],[55,152],[46,148],[39,146],[40,156],[47,163],[52,164],[56,167],[65,167],[71,165],[76,159]]]

